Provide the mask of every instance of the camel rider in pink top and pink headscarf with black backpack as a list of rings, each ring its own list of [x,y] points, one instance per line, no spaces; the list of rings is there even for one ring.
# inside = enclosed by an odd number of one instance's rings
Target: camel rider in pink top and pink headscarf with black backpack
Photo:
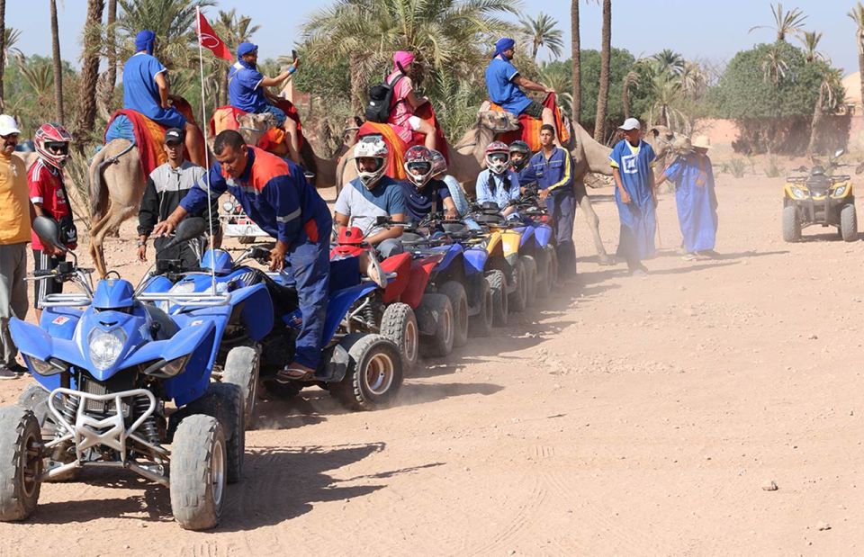
[[[413,64],[414,54],[411,52],[398,50],[393,53],[393,71],[387,76],[387,83],[393,87],[393,104],[387,123],[406,145],[410,145],[414,132],[417,131],[426,136],[423,142],[426,148],[436,150],[435,127],[414,113],[422,104],[428,103],[429,99],[414,93],[414,84],[410,77]]]

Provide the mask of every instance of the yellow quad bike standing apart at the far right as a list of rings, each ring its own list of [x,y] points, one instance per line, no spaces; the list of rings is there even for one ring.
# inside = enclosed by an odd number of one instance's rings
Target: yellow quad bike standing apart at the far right
[[[797,242],[801,229],[820,225],[833,226],[844,241],[858,239],[858,216],[855,212],[855,193],[849,175],[835,175],[834,168],[842,166],[837,159],[845,152],[837,150],[828,159],[827,168],[815,165],[801,166],[783,186],[783,240]]]

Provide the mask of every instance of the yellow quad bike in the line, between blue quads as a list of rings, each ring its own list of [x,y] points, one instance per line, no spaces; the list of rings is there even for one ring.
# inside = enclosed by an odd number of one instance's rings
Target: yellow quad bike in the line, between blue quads
[[[504,326],[511,311],[524,311],[528,301],[534,298],[536,265],[530,265],[533,260],[528,262],[519,256],[522,233],[513,228],[520,226],[521,221],[506,220],[497,205],[483,207],[472,219],[489,231],[481,241],[489,254],[485,274],[493,292],[492,321],[496,326]]]

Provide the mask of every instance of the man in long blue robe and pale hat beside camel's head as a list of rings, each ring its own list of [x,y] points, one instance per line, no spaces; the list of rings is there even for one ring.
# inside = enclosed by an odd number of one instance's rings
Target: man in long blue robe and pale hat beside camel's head
[[[715,256],[717,196],[711,159],[707,156],[710,147],[706,136],[693,139],[692,150],[685,148],[689,152],[676,158],[656,184],[666,180],[675,183],[675,204],[686,252],[684,258],[689,260],[697,256]]]

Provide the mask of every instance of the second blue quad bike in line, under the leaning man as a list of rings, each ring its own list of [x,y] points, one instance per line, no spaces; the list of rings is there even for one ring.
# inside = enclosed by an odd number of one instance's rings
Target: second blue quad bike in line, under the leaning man
[[[324,322],[324,350],[317,372],[308,382],[276,382],[276,372],[293,359],[302,325],[297,291],[288,274],[266,273],[248,265],[269,263],[266,247],[249,247],[235,261],[221,249],[206,251],[201,267],[188,269],[179,262],[164,262],[139,285],[141,292],[207,292],[215,281],[216,292],[235,292],[257,286],[269,294],[268,304],[238,308],[229,316],[220,340],[215,378],[237,384],[246,401],[247,427],[254,425],[259,383],[278,397],[296,395],[317,385],[329,391],[343,406],[355,410],[379,409],[392,404],[401,389],[403,364],[400,349],[382,335],[351,333],[344,327],[351,308],[373,294],[377,284],[362,281],[356,262],[330,263],[329,301]],[[213,276],[215,278],[213,278]],[[169,315],[182,306],[162,301]],[[266,323],[266,327],[263,324]],[[266,328],[261,336],[258,331]]]

